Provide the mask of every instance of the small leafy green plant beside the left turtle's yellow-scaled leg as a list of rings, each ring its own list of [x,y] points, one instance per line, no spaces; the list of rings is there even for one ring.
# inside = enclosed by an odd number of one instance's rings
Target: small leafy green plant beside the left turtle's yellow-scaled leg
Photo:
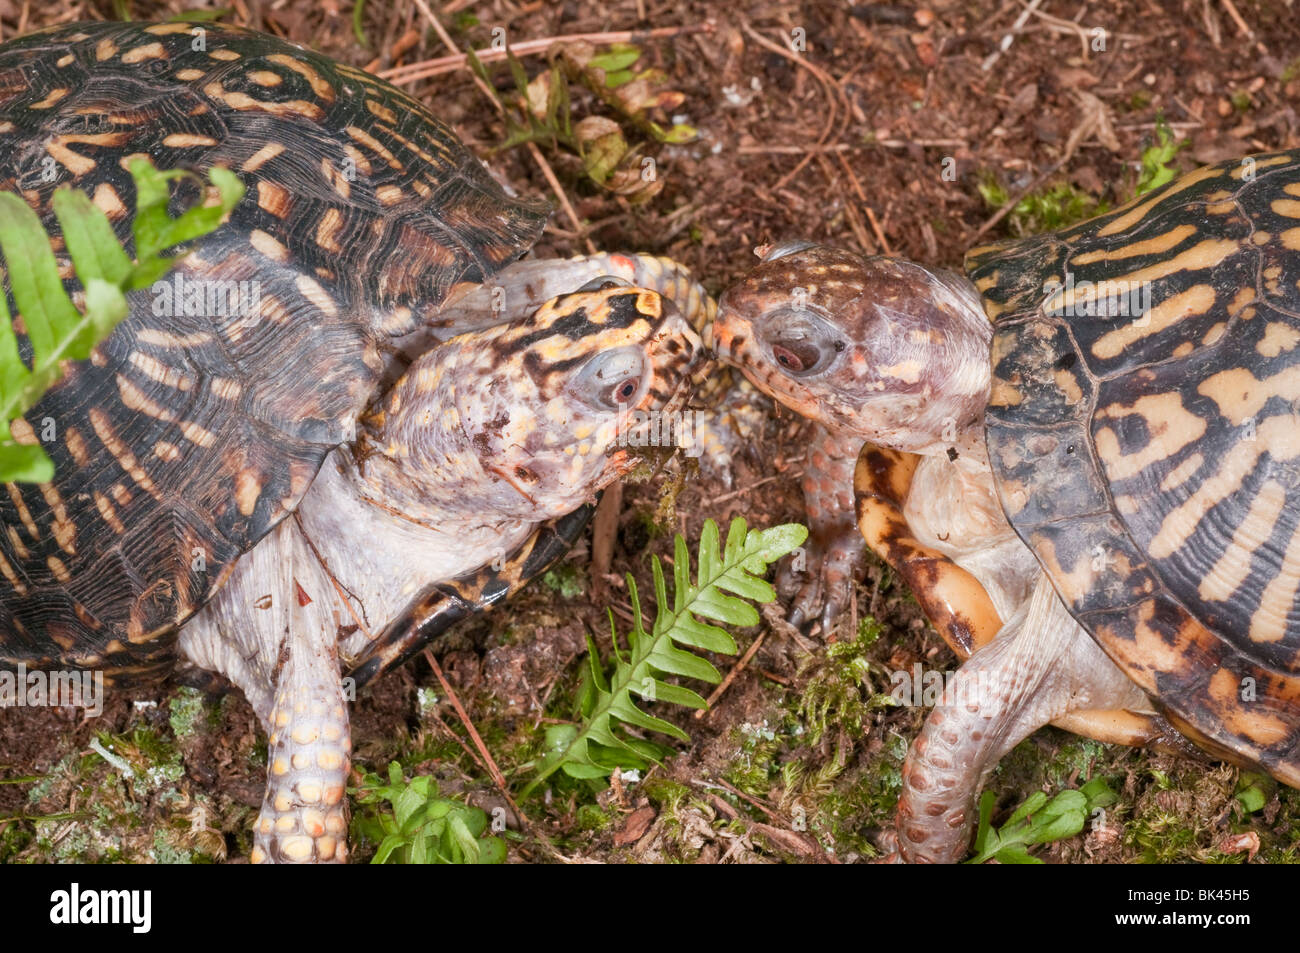
[[[356,789],[358,803],[372,805],[352,822],[355,833],[378,841],[370,863],[503,863],[506,841],[484,837],[488,815],[438,796],[429,776],[404,780],[402,766],[389,763],[387,784],[367,774]],[[390,809],[384,809],[384,802]]]

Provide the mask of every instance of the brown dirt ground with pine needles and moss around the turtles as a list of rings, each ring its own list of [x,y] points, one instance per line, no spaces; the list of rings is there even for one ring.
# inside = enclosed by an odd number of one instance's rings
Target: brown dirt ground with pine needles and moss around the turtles
[[[421,5],[370,0],[360,18],[368,47],[346,0],[234,0],[225,20],[381,72],[450,52]],[[162,20],[199,7],[0,0],[0,30],[9,39],[55,22]],[[658,191],[641,204],[594,185],[562,146],[538,144],[545,165],[523,147],[494,153],[507,130],[467,69],[406,88],[520,192],[554,202],[547,166],[554,172],[580,228],[558,211],[537,255],[577,254],[586,242],[670,255],[712,293],[751,267],[755,246],[785,238],[958,268],[978,238],[1032,231],[1131,198],[1161,117],[1188,143],[1171,160],[1180,169],[1300,146],[1300,16],[1287,0],[1045,0],[1030,13],[1018,0],[429,7],[462,48],[488,48],[499,35],[517,44],[664,31],[633,39],[642,51],[637,68],[662,69],[663,88],[681,94],[650,116],[693,126],[698,138],[655,142],[580,85],[572,91],[575,118],[615,118],[654,159]],[[790,43],[802,51],[789,52]],[[541,53],[521,62],[530,78],[547,68]],[[488,69],[510,99],[506,66]],[[1015,207],[1005,212],[1009,204]],[[697,540],[705,519],[800,520],[805,449],[803,424],[770,408],[738,454],[731,486],[690,473],[680,480],[670,468],[627,488],[608,573],[590,571],[584,542],[572,568],[436,646],[515,793],[542,728],[572,714],[585,632],[607,653],[606,606],[625,619],[623,573],[653,592],[650,554],[671,555],[673,530]],[[833,653],[801,645],[779,625],[738,633],[742,651],[758,637],[763,645],[707,715],[655,706],[690,733],[689,744],[677,742],[675,757],[612,789],[555,780],[520,805],[532,826],[511,840],[510,859],[875,855],[902,754],[924,716],[880,703],[888,672],[914,662],[950,668],[956,659],[879,563],[858,590],[857,616],[858,631],[845,624],[832,633]],[[714,660],[723,671],[734,666]],[[436,776],[445,794],[468,794],[486,810],[502,802],[424,660],[364,692],[352,724],[359,770],[384,774],[395,759],[407,776]],[[3,711],[0,859],[243,861],[264,758],[265,741],[238,696],[212,699],[176,688],[118,696],[88,722],[70,710]],[[1117,796],[1108,820],[1036,848],[1041,859],[1297,859],[1296,792],[1232,767],[1056,729],[1004,759],[991,781],[993,823],[1036,790],[1050,796],[1091,777],[1104,777]],[[356,840],[355,859],[368,859],[373,842]]]

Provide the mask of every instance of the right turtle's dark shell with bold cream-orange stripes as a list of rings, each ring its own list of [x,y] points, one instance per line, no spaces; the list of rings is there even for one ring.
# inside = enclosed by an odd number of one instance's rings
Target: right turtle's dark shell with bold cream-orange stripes
[[[1175,724],[1300,785],[1300,152],[966,267],[1015,532]]]

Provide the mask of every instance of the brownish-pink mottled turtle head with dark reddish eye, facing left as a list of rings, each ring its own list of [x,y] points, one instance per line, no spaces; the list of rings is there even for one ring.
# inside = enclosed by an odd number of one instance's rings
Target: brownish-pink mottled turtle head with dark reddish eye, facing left
[[[722,360],[846,438],[910,452],[982,443],[991,329],[970,282],[810,242],[759,251],[719,303]]]

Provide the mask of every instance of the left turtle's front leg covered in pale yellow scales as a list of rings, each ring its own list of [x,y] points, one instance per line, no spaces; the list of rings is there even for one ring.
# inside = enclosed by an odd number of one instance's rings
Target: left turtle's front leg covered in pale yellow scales
[[[254,863],[347,859],[351,755],[337,625],[326,599],[290,586],[289,637],[268,718],[266,794],[254,828]],[[322,593],[316,593],[322,595]]]

